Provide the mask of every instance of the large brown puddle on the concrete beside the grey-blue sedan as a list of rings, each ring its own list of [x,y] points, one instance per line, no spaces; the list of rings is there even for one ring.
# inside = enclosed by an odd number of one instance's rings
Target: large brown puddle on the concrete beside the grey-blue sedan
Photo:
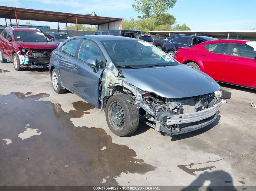
[[[155,170],[104,129],[73,125],[70,119],[89,114],[91,104],[74,102],[75,110],[66,113],[60,104],[38,100],[49,94],[31,94],[0,95],[0,140],[12,140],[0,147],[2,184],[117,185],[114,177],[122,172]],[[18,137],[27,130],[34,134]]]

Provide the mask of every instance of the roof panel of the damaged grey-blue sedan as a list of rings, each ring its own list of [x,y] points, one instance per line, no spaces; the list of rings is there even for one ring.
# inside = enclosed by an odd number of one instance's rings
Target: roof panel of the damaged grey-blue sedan
[[[71,37],[72,39],[74,38],[88,38],[92,40],[139,40],[140,39],[135,39],[135,38],[130,38],[130,37],[120,37],[120,36],[112,36],[112,35],[85,35],[85,36],[77,36],[77,37]]]

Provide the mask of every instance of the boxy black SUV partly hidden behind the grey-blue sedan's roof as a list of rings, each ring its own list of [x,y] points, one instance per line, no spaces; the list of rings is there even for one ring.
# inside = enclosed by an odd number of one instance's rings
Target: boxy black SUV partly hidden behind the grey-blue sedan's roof
[[[113,35],[113,36],[141,39],[141,31],[139,30],[118,30],[118,29],[96,30],[94,35]]]

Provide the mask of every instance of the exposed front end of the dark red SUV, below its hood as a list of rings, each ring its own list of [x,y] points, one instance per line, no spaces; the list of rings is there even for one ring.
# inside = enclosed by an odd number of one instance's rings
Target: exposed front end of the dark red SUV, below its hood
[[[20,65],[23,68],[47,68],[53,50],[21,48],[18,52]]]

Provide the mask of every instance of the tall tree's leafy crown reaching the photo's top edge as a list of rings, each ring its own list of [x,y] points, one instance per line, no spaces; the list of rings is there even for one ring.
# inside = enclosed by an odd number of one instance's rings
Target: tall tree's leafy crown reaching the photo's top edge
[[[132,7],[142,14],[139,18],[156,18],[165,13],[169,8],[174,7],[177,0],[135,0]]]

